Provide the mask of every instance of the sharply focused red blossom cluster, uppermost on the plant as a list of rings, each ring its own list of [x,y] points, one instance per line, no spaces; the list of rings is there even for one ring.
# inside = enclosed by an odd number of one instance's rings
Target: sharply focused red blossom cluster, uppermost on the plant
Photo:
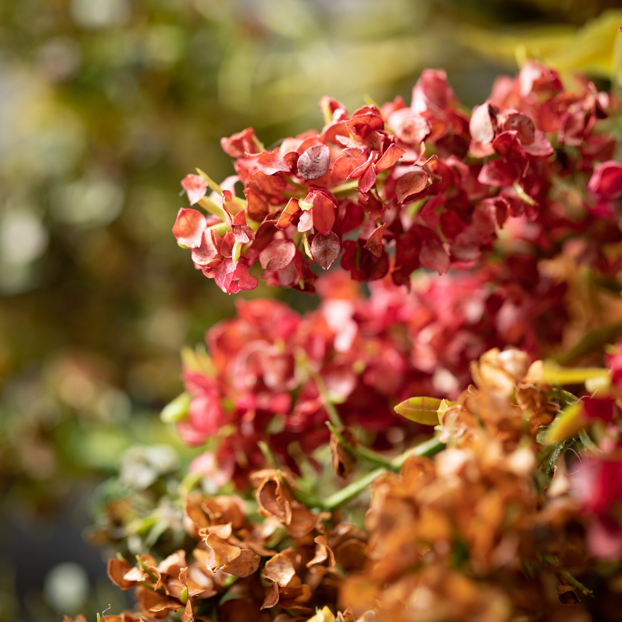
[[[597,123],[609,107],[592,83],[564,90],[531,61],[471,114],[437,70],[422,73],[410,106],[398,97],[348,114],[323,98],[320,132],[271,151],[251,128],[224,138],[236,175],[220,185],[187,175],[190,205],[208,215],[182,208],[173,232],[228,293],[257,286],[256,262],[270,284],[313,292],[313,265],[327,269],[342,251],[355,281],[390,273],[404,284],[418,267],[472,267],[508,224],[554,254],[569,234],[615,216],[622,168]]]

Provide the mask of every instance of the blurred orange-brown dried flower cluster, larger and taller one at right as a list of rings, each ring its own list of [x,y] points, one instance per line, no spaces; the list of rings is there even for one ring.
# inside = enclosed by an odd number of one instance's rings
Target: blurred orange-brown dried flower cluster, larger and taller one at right
[[[558,409],[542,361],[491,350],[472,373],[477,386],[443,414],[447,448],[376,481],[370,561],[341,601],[391,622],[589,620],[564,604],[590,560],[572,529],[577,499],[539,466],[537,433]]]

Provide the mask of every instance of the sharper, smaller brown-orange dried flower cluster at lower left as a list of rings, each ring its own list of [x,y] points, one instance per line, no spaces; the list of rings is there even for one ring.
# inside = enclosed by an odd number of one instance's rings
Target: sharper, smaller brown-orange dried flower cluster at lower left
[[[287,473],[267,469],[251,481],[254,516],[237,495],[185,498],[184,526],[197,541],[188,558],[181,549],[159,564],[151,555],[140,555],[134,566],[122,557],[109,560],[111,580],[136,589],[139,618],[126,614],[128,622],[175,611],[183,622],[286,622],[306,620],[326,603],[334,609],[343,573],[363,567],[365,532],[306,508]]]

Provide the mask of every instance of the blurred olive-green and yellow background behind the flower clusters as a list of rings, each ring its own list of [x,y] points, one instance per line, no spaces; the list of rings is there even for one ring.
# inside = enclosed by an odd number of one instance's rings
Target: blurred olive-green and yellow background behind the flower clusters
[[[170,234],[185,174],[231,174],[221,136],[408,101],[424,67],[467,106],[528,56],[620,88],[621,24],[615,0],[0,1],[0,622],[119,610],[93,491],[128,448],[138,488],[197,453],[156,412],[234,312]]]

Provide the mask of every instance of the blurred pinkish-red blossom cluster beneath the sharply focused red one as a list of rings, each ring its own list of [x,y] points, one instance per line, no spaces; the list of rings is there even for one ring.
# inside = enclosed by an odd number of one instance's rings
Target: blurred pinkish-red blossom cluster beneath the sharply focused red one
[[[363,297],[345,272],[332,272],[318,281],[318,310],[302,316],[276,300],[239,301],[235,318],[208,330],[207,355],[184,357],[177,431],[190,445],[218,438],[216,452],[191,469],[243,488],[263,463],[259,440],[295,468],[290,443],[309,454],[327,442],[330,407],[373,434],[376,447],[391,447],[396,432],[399,440],[421,432],[394,413],[398,402],[457,397],[471,380],[470,361],[493,346],[539,353],[542,300],[488,285],[490,277],[422,276],[411,291],[383,279]],[[554,338],[555,323],[544,323]]]

